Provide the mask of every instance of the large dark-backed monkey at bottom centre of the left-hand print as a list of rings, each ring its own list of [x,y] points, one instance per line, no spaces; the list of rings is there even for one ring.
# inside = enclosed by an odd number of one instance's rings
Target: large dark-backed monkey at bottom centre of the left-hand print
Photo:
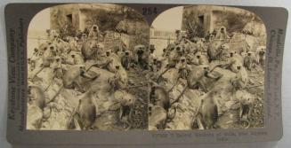
[[[93,123],[97,118],[96,106],[93,103],[93,99],[95,99],[95,93],[96,92],[93,90],[88,90],[79,99],[76,113],[79,117],[81,129],[92,129]]]

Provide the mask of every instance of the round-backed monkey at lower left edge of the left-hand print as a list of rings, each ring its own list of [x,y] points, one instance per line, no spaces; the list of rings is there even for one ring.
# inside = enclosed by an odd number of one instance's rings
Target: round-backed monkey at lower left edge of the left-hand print
[[[44,111],[45,106],[45,95],[44,90],[36,85],[28,86],[28,104],[36,105],[42,111]]]

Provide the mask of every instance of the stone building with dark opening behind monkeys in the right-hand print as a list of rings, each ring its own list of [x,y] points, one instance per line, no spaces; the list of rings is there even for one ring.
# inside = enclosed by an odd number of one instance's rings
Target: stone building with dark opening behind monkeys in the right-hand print
[[[236,21],[236,20],[240,21]],[[191,5],[184,6],[182,29],[199,26],[205,33],[211,33],[214,29],[226,27],[230,32],[243,29],[247,22],[253,20],[261,21],[253,12],[243,9],[214,6],[214,5]],[[240,23],[240,24],[239,24]]]

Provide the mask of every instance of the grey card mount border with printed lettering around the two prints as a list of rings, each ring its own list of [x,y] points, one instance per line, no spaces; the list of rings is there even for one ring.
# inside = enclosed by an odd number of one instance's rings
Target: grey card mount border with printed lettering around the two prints
[[[60,3],[63,4],[63,3]],[[74,4],[74,3],[68,3]],[[100,3],[99,3],[100,4]],[[114,3],[119,4],[119,3]],[[124,3],[123,3],[124,4]],[[6,27],[6,38],[7,38],[7,51],[8,55],[11,53],[11,40],[10,40],[10,29],[18,27],[20,18],[23,23],[23,35],[27,36],[28,24],[30,19],[36,14],[36,12],[43,10],[46,7],[59,5],[59,4],[7,4],[5,6],[5,27]],[[142,7],[158,7],[160,12],[164,10],[182,5],[196,5],[196,4],[125,4],[133,7],[133,9],[141,12]],[[203,4],[198,4],[203,5]],[[218,5],[218,4],[214,4]],[[229,5],[221,5],[229,6]],[[26,115],[26,107],[22,112],[15,113],[15,120],[7,120],[7,140],[11,144],[197,144],[197,143],[225,143],[225,142],[258,142],[258,141],[277,141],[283,135],[282,125],[282,113],[281,113],[281,77],[282,77],[282,62],[283,62],[283,49],[285,43],[285,35],[287,29],[287,9],[282,7],[262,7],[262,6],[234,6],[229,7],[242,8],[250,12],[255,12],[258,16],[263,19],[267,29],[267,65],[265,69],[265,127],[262,129],[214,129],[214,130],[159,130],[159,131],[126,131],[126,132],[115,132],[115,131],[32,131],[20,130],[19,123],[21,122],[20,114],[23,112]],[[17,10],[17,12],[15,11]],[[29,11],[28,11],[29,10]],[[12,16],[12,17],[11,17]],[[146,17],[148,21],[152,21],[155,16]],[[150,24],[150,23],[149,23]],[[274,31],[278,29],[283,30],[281,35],[281,47],[276,48],[276,42],[271,40]],[[26,45],[27,40],[24,38],[25,57],[26,57]],[[274,42],[271,44],[271,41]],[[12,58],[9,57],[8,61],[8,73],[12,72],[12,66],[15,66],[15,62],[20,59],[15,59],[14,63]],[[24,65],[27,65],[24,60]],[[271,69],[269,69],[271,68]],[[268,72],[268,73],[267,73]],[[27,74],[27,72],[26,72]],[[274,75],[274,76],[272,76]],[[276,79],[275,79],[276,77]],[[275,85],[276,83],[276,85]],[[12,87],[15,84],[8,83],[8,99],[9,102],[12,100]],[[21,88],[26,89],[26,88]],[[26,100],[25,98],[19,98]],[[270,102],[269,102],[270,101]],[[276,102],[276,105],[270,105]],[[26,103],[25,103],[26,105]],[[278,106],[277,106],[278,105]],[[8,105],[8,113],[11,113],[11,104]],[[270,113],[271,112],[271,113]],[[276,113],[276,114],[274,114]],[[270,115],[270,118],[267,118]],[[9,117],[9,114],[8,114]],[[276,119],[274,119],[276,117]],[[23,120],[23,119],[22,119]],[[23,122],[23,121],[22,121]],[[23,127],[22,127],[23,128]],[[246,131],[247,130],[247,131]],[[206,135],[225,133],[238,133],[238,132],[254,132],[261,133],[258,135],[248,136],[227,136],[227,140],[223,138],[217,139],[214,136],[207,137],[187,137],[187,135]],[[172,137],[172,135],[184,135],[182,138]],[[166,135],[167,137],[160,137]],[[222,136],[224,137],[224,136]]]

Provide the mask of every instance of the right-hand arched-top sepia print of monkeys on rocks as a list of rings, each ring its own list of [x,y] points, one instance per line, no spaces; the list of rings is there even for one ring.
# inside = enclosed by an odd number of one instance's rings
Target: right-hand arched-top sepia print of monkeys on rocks
[[[149,129],[263,128],[266,37],[244,9],[162,12],[150,26]]]

